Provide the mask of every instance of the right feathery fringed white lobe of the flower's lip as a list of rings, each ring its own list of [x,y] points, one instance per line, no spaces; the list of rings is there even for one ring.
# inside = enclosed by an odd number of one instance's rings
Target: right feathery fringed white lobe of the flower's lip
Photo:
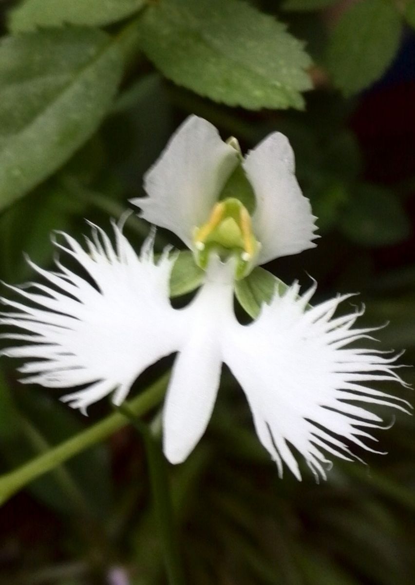
[[[283,297],[265,305],[253,324],[225,331],[224,362],[247,395],[262,445],[278,464],[301,479],[300,453],[316,476],[326,477],[325,453],[356,458],[338,436],[372,450],[359,439],[374,439],[359,427],[381,428],[382,419],[365,407],[382,404],[407,412],[400,398],[366,387],[371,380],[397,381],[394,358],[367,349],[338,349],[338,342],[365,337],[347,318],[333,319],[338,297],[304,312],[304,298],[293,285]],[[333,331],[333,323],[337,328]],[[335,339],[333,334],[335,333]],[[343,347],[342,345],[342,347]],[[396,356],[397,357],[397,356]],[[361,402],[361,406],[350,404]],[[402,403],[404,406],[402,406]],[[326,467],[326,469],[325,469]]]

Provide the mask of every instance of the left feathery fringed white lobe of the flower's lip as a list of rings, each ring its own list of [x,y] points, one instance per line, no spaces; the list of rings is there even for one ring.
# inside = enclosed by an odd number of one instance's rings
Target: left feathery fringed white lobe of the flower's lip
[[[3,313],[1,324],[23,330],[20,337],[9,336],[29,342],[2,353],[36,359],[20,368],[30,374],[22,381],[53,388],[85,385],[64,398],[84,412],[112,391],[113,402],[120,404],[141,371],[177,350],[185,331],[181,312],[171,307],[168,298],[174,260],[165,253],[155,264],[151,239],[138,257],[120,228],[113,225],[113,229],[115,247],[95,227],[93,241],[87,242],[89,253],[66,234],[63,244],[56,243],[95,284],[61,264],[58,273],[35,267],[48,285],[34,284],[29,290],[10,287],[23,302],[2,300],[17,311]]]

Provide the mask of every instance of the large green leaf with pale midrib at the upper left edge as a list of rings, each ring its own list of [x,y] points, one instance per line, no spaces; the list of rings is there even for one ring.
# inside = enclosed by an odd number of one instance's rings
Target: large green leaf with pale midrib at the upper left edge
[[[0,44],[0,209],[61,166],[96,130],[123,70],[117,43],[69,27]]]

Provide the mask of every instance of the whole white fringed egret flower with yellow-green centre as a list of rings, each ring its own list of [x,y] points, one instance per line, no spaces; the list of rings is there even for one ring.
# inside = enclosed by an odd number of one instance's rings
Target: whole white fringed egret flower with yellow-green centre
[[[248,209],[223,197],[233,173],[242,173],[255,195]],[[86,249],[62,233],[54,245],[82,267],[87,278],[56,260],[46,271],[29,260],[43,283],[9,287],[21,300],[2,301],[8,332],[23,342],[6,348],[28,359],[23,383],[77,388],[61,400],[86,414],[112,394],[119,405],[134,380],[163,356],[178,352],[164,404],[163,448],[183,462],[205,432],[225,363],[243,389],[262,445],[301,479],[300,453],[318,477],[334,455],[356,456],[351,446],[373,450],[372,429],[385,426],[366,405],[407,412],[409,404],[373,386],[404,384],[397,356],[356,349],[371,329],[353,328],[362,311],[334,316],[350,295],[310,308],[316,284],[300,294],[294,283],[262,306],[249,325],[234,315],[234,283],[254,266],[313,247],[314,217],[294,174],[288,140],[272,133],[243,159],[209,122],[191,116],[172,136],[144,178],[148,197],[133,200],[141,216],[174,232],[188,246],[205,278],[193,300],[172,308],[169,279],[175,254],[156,260],[154,234],[137,254],[113,223],[115,243],[92,225]],[[359,405],[357,405],[358,403]],[[343,437],[343,439],[341,439]]]

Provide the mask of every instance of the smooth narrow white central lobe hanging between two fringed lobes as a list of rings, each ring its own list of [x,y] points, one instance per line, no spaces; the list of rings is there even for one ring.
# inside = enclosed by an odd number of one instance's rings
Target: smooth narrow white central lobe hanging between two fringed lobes
[[[171,463],[186,459],[212,415],[222,367],[222,331],[234,321],[233,271],[233,265],[213,258],[208,280],[184,309],[189,329],[164,406],[163,446]]]

